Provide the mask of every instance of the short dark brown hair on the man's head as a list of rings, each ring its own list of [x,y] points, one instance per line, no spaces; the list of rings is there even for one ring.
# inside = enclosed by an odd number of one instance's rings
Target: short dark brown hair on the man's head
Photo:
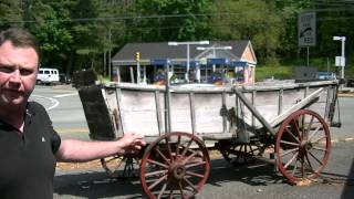
[[[37,38],[29,31],[21,28],[10,28],[0,32],[0,45],[10,41],[15,48],[33,48],[40,56],[40,46]]]

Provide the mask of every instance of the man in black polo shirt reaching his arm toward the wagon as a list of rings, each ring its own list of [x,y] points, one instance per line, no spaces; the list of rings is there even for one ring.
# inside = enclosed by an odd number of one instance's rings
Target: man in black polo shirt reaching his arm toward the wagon
[[[0,198],[53,198],[56,161],[88,161],[137,153],[145,142],[126,134],[114,142],[61,140],[44,107],[28,102],[39,69],[39,46],[29,32],[0,33]]]

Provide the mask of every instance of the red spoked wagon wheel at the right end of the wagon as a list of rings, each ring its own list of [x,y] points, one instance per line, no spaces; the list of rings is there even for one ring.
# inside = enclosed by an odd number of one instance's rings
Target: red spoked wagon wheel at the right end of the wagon
[[[279,128],[275,144],[277,164],[292,184],[315,179],[327,164],[330,149],[329,126],[312,111],[294,112]]]

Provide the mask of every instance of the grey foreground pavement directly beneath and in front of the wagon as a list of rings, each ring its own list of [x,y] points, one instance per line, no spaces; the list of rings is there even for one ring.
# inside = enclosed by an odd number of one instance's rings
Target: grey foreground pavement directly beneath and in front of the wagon
[[[211,160],[200,199],[352,199],[354,198],[354,142],[337,143],[317,182],[294,187],[274,171],[273,165],[257,161],[236,168],[223,159]],[[111,179],[102,169],[59,172],[54,198],[145,198],[138,179]]]

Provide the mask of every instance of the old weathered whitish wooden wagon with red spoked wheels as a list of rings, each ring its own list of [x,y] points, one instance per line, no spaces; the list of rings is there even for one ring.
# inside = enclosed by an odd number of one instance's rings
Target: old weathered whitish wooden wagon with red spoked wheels
[[[147,147],[129,157],[102,159],[107,174],[139,166],[149,198],[189,198],[206,184],[215,147],[233,165],[264,150],[292,184],[315,179],[331,150],[329,126],[337,81],[281,81],[248,86],[138,85],[108,83],[80,87],[94,140],[125,133],[144,135]]]

